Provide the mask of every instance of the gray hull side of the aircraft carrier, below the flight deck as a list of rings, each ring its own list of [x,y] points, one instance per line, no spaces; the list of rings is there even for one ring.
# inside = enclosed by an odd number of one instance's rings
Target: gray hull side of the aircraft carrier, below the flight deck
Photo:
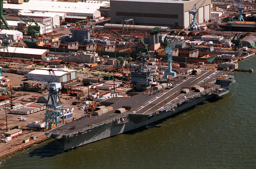
[[[203,95],[202,97],[199,97],[194,101],[187,102],[186,104],[177,107],[175,111],[161,111],[159,114],[151,116],[147,118],[147,120],[142,121],[140,123],[134,123],[132,120],[129,120],[127,123],[122,123],[122,124],[117,124],[116,122],[112,122],[112,123],[100,125],[99,127],[95,127],[91,131],[88,131],[87,133],[77,134],[77,135],[74,135],[73,137],[61,138],[56,140],[64,145],[64,150],[72,149],[81,145],[98,141],[100,139],[105,139],[107,137],[118,135],[120,133],[124,133],[130,130],[145,126],[147,124],[159,121],[170,115],[178,113],[184,109],[192,107],[197,103],[201,103],[202,101],[205,101],[210,97],[213,97],[213,95]]]

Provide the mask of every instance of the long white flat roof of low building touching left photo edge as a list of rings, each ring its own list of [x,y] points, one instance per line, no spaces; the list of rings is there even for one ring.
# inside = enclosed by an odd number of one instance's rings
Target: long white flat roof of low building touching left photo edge
[[[8,47],[9,53],[16,54],[32,54],[32,55],[42,55],[44,52],[47,52],[46,49],[32,49],[32,48],[17,48],[17,47]],[[0,49],[0,52],[8,52],[6,48]]]

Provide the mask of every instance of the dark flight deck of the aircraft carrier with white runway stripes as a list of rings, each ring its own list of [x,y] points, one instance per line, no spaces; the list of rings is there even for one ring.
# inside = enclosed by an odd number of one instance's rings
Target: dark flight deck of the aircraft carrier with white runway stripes
[[[70,133],[79,133],[79,131],[85,128],[91,128],[99,123],[106,123],[106,121],[111,121],[111,119],[116,119],[123,117],[127,114],[144,114],[151,115],[152,113],[158,111],[167,111],[168,108],[174,107],[178,103],[184,101],[185,99],[198,97],[199,92],[191,90],[194,85],[200,85],[205,88],[204,92],[216,90],[218,84],[214,84],[218,76],[222,76],[227,72],[223,71],[202,71],[201,74],[197,76],[180,76],[180,78],[174,78],[170,81],[173,83],[170,89],[163,91],[156,91],[151,93],[141,92],[131,97],[114,97],[105,100],[105,104],[109,104],[113,107],[112,111],[104,113],[98,116],[84,117],[65,125],[61,125],[48,131],[48,137],[52,134],[69,135]],[[210,87],[208,86],[210,84]],[[181,89],[189,88],[188,93],[181,93]],[[115,113],[115,110],[121,107],[131,107],[130,110],[125,113]],[[87,131],[90,129],[87,129]],[[47,135],[47,134],[46,134]]]

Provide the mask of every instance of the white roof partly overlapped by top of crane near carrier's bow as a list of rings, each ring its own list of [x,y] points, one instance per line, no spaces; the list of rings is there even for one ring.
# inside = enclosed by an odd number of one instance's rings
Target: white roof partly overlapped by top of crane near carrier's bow
[[[76,72],[77,70],[71,70],[71,69],[55,69],[55,68],[42,68],[42,69],[35,69],[29,72],[28,74],[36,74],[36,75],[49,75],[49,69],[54,70],[55,76],[64,76],[65,74]]]

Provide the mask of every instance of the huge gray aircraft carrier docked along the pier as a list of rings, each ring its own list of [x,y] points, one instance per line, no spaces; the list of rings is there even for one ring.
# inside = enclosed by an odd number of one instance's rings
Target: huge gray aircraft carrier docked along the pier
[[[102,104],[112,106],[112,111],[92,117],[84,115],[47,131],[46,136],[56,139],[64,145],[64,150],[68,150],[149,125],[211,97],[225,95],[229,92],[228,85],[235,82],[234,76],[229,73],[202,71],[198,75],[173,78],[170,81],[172,86],[163,90],[105,100]],[[188,92],[184,92],[184,89]],[[121,107],[126,111],[115,113]]]

